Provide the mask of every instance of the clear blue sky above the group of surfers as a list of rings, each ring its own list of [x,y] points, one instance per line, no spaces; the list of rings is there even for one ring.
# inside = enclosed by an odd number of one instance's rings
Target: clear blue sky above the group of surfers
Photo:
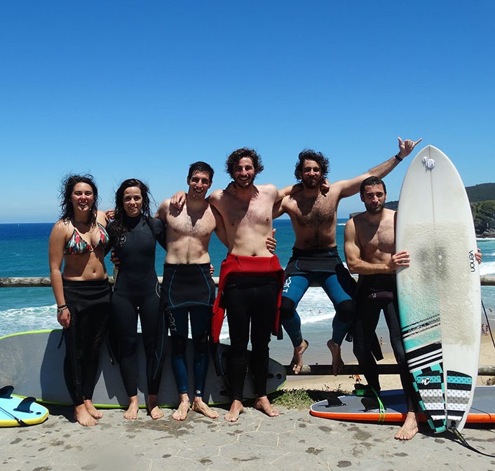
[[[241,146],[257,182],[285,186],[301,149],[334,181],[423,137],[466,186],[494,182],[494,16],[488,0],[0,0],[0,222],[55,221],[69,172],[95,176],[101,209],[129,177],[159,203],[198,160],[224,187]]]

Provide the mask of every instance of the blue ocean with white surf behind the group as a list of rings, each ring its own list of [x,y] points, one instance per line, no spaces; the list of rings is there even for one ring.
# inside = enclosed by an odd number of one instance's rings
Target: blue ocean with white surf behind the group
[[[344,259],[344,226],[346,219],[339,219],[337,226],[337,245]],[[0,224],[0,277],[29,277],[48,276],[48,237],[53,224]],[[276,254],[280,264],[285,266],[292,253],[294,234],[288,219],[276,219],[277,249]],[[478,246],[483,253],[480,267],[482,275],[495,274],[495,239],[480,239]],[[219,273],[219,267],[224,259],[226,250],[215,235],[210,243],[210,257],[215,266],[214,275]],[[163,273],[165,252],[157,247],[156,273]],[[112,264],[107,260],[107,270],[111,274]],[[490,324],[495,320],[495,287],[482,287],[484,306],[489,314]],[[491,309],[491,312],[490,312]],[[311,362],[329,362],[330,356],[325,346],[332,333],[332,318],[334,308],[323,289],[312,287],[299,303],[302,332],[311,347]],[[484,315],[483,315],[484,316]],[[483,323],[486,323],[484,317]],[[50,288],[0,288],[0,337],[15,332],[25,332],[41,329],[57,329],[60,326],[56,320],[56,306]],[[379,336],[384,337],[386,347],[386,325],[379,325]],[[222,339],[228,341],[226,323],[222,330]],[[344,342],[344,360],[352,360],[351,346]],[[271,342],[271,356],[279,361],[289,362],[292,356],[292,345],[285,338],[283,341]],[[309,358],[308,358],[309,360]]]

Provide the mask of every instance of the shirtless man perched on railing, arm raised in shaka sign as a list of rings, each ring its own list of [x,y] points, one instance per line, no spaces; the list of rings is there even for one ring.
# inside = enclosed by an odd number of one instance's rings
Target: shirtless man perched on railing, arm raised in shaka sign
[[[299,153],[294,175],[302,182],[303,189],[284,196],[273,208],[273,217],[279,217],[285,212],[289,214],[296,236],[292,257],[285,269],[280,307],[281,323],[294,346],[291,364],[295,374],[301,371],[302,355],[308,348],[308,342],[302,338],[301,319],[296,308],[311,282],[318,282],[325,289],[335,308],[332,339],[327,342],[332,353],[333,373],[339,374],[344,366],[340,349],[351,327],[354,306],[352,280],[337,251],[337,207],[342,198],[358,193],[360,183],[366,177],[384,177],[391,172],[421,139],[416,142],[402,141],[398,137],[398,141],[399,152],[395,156],[363,175],[330,184],[327,193],[320,189],[320,183],[327,175],[327,158],[315,151]]]

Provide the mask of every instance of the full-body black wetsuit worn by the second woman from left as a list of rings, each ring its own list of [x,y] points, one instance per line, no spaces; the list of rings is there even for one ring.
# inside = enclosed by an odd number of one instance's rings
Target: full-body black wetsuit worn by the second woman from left
[[[129,230],[120,240],[112,240],[118,257],[118,275],[111,299],[111,325],[116,334],[116,355],[129,397],[137,395],[137,315],[146,354],[148,393],[156,395],[161,381],[162,362],[154,355],[160,313],[160,286],[155,271],[156,242],[165,247],[165,225],[160,219],[124,217]],[[111,224],[109,224],[111,234]]]

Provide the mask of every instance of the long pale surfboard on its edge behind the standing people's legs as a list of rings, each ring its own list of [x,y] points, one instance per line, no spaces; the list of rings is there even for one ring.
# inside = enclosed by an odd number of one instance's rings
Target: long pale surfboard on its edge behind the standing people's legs
[[[65,343],[58,348],[62,331],[45,330],[21,332],[0,339],[0,384],[15,384],[15,394],[22,397],[33,396],[40,402],[51,404],[71,404],[65,385],[63,364]],[[169,337],[170,340],[170,337]],[[170,364],[170,341],[166,343],[165,364],[158,392],[158,403],[163,407],[173,407],[179,403],[179,393]],[[228,346],[220,344],[223,353]],[[248,352],[249,354],[249,352]],[[189,370],[189,397],[194,397],[193,345],[188,341],[187,360]],[[146,364],[141,339],[137,342],[137,396],[141,406],[147,395]],[[269,360],[269,377],[266,378],[266,391],[273,392],[285,384],[285,367],[275,360]],[[248,372],[244,397],[255,397],[254,383]],[[210,359],[203,400],[209,404],[230,402],[229,391],[222,376],[217,376]],[[129,402],[123,385],[118,364],[111,364],[109,350],[105,344],[100,350],[100,368],[93,395],[97,407],[125,407]]]

